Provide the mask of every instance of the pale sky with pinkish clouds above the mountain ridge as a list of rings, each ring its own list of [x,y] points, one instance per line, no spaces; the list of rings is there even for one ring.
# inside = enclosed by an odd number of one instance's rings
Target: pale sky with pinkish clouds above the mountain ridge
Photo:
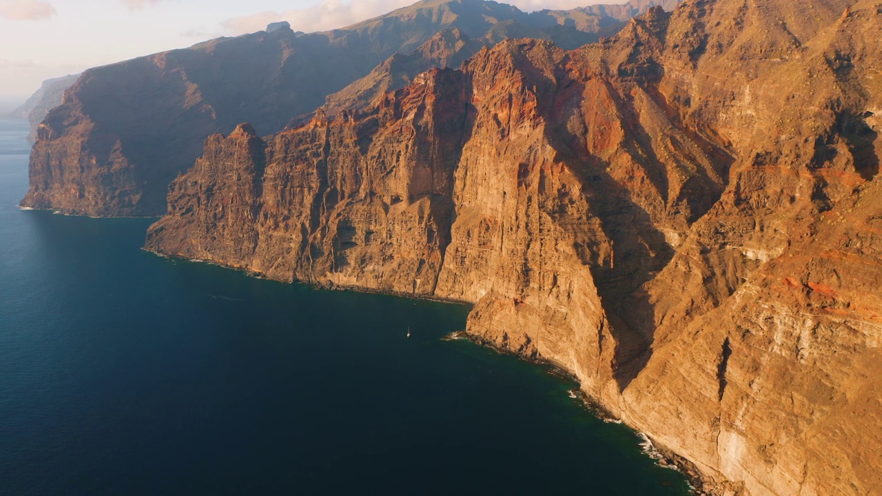
[[[623,0],[608,0],[622,3]],[[0,0],[0,106],[24,101],[44,79],[75,74],[287,20],[323,31],[415,0]],[[598,0],[510,0],[521,10]]]

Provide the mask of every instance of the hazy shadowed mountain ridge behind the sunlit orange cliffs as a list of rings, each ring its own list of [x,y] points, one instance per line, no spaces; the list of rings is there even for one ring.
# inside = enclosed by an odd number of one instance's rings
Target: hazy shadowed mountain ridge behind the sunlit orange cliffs
[[[572,47],[597,39],[598,23],[568,22],[569,16],[483,0],[423,0],[325,33],[273,24],[268,32],[91,69],[41,123],[22,205],[98,216],[162,214],[168,184],[213,133],[245,121],[278,132],[394,53],[409,54],[445,30],[472,39],[492,34],[493,42],[526,34]],[[607,30],[624,26],[610,22]]]

